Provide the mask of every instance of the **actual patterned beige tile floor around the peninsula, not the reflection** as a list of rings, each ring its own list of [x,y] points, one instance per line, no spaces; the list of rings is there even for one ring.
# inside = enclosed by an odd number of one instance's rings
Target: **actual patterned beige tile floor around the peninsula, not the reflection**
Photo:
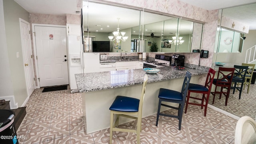
[[[17,135],[25,138],[20,139],[19,144],[109,142],[109,128],[86,134],[80,93],[71,94],[70,90],[42,93],[42,90],[36,89],[26,104],[27,115],[17,130]],[[134,128],[134,122],[120,126]],[[181,130],[176,118],[160,116],[158,127],[155,126],[156,114],[143,118],[140,141],[141,144],[234,144],[236,122],[211,108],[204,117],[199,106],[189,105],[187,114],[183,114]],[[135,133],[114,132],[113,137],[114,144],[136,144]]]

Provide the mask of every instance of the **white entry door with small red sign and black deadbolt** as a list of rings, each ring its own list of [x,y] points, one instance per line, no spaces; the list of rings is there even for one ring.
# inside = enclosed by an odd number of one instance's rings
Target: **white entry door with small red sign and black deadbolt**
[[[35,26],[40,87],[68,84],[66,28]]]

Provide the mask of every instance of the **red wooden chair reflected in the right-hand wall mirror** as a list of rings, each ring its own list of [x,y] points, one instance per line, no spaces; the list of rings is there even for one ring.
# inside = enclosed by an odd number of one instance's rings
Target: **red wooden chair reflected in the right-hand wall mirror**
[[[225,106],[228,104],[228,97],[229,97],[229,93],[230,93],[234,70],[235,70],[235,68],[219,67],[218,76],[217,76],[217,78],[214,78],[214,80],[212,82],[212,84],[215,85],[215,91],[211,92],[211,94],[213,95],[212,104],[214,104],[214,99],[215,99],[216,94],[220,94],[220,98],[221,98],[222,94],[224,96],[226,96]],[[228,78],[229,76],[231,77],[231,79]],[[219,92],[217,91],[218,86],[220,87]],[[227,91],[224,92],[223,88],[227,89]]]

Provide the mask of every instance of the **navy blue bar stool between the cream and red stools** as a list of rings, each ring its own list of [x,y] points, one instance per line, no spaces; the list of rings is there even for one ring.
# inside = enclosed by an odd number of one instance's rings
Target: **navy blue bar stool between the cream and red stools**
[[[186,72],[186,76],[184,78],[181,92],[160,88],[159,94],[158,94],[159,103],[158,103],[158,111],[157,111],[157,118],[156,118],[156,126],[158,125],[159,116],[168,116],[168,117],[178,118],[179,130],[181,129],[182,114],[183,114],[184,104],[186,101],[186,95],[188,91],[188,84],[190,82],[190,78],[191,78],[191,73]],[[168,106],[166,104],[162,104],[162,102],[178,103],[179,107],[177,108],[174,106]],[[168,108],[173,108],[178,110],[178,116],[160,113],[161,106],[166,106]]]

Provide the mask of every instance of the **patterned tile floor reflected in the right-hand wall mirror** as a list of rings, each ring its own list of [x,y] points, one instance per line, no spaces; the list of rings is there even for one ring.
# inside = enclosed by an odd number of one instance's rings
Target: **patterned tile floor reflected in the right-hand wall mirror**
[[[213,106],[225,110],[238,117],[250,116],[255,120],[256,117],[256,84],[250,85],[249,94],[247,94],[247,86],[242,90],[241,99],[239,100],[239,92],[230,90],[228,104],[225,106],[225,96],[219,99],[219,94],[216,94]],[[209,104],[212,104],[213,96],[211,95]]]

